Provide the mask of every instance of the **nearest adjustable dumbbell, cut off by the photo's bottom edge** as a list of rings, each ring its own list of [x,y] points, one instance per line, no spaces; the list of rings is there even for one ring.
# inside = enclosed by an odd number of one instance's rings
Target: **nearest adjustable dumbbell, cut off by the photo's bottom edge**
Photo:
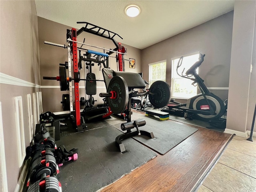
[[[30,185],[27,192],[61,192],[61,184],[54,176],[45,177]]]

